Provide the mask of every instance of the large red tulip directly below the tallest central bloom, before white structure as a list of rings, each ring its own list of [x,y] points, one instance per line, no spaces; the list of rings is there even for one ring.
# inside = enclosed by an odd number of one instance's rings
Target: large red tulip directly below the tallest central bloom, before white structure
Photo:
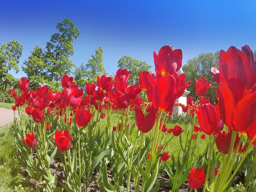
[[[151,75],[148,75],[148,81],[150,82],[148,97],[155,108],[161,111],[172,110],[176,100],[189,87],[189,82],[184,84],[183,87],[179,87],[178,80],[179,76],[166,75],[156,82]]]

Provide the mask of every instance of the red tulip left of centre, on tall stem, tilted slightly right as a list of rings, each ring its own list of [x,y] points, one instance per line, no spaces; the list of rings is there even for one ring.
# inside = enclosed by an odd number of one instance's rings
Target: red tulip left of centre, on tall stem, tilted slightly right
[[[76,125],[79,127],[86,126],[90,120],[93,119],[93,113],[90,113],[90,109],[76,108]]]

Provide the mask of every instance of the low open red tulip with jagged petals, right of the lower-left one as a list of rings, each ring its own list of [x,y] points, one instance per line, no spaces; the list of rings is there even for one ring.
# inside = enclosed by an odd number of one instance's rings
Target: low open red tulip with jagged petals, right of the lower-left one
[[[60,151],[67,151],[70,149],[72,138],[73,136],[70,137],[68,130],[62,130],[61,132],[55,131],[55,139],[52,137]]]

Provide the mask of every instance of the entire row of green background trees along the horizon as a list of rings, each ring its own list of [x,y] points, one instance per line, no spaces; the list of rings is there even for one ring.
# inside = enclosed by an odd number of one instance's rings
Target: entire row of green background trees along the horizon
[[[64,74],[73,75],[79,88],[84,89],[85,82],[96,82],[97,76],[107,75],[103,64],[103,52],[101,46],[91,54],[87,64],[81,63],[76,66],[70,60],[75,52],[73,42],[79,37],[79,29],[75,27],[72,20],[64,18],[56,25],[57,33],[54,33],[46,47],[38,45],[31,51],[31,55],[22,64],[22,70],[26,73],[26,78],[30,79],[30,89],[36,90],[39,85],[46,84],[52,90],[61,90],[61,77]],[[23,46],[15,39],[6,43],[0,43],[0,101],[12,102],[12,97],[7,93],[9,88],[17,88],[15,81],[18,79],[10,74],[10,70],[19,72],[18,63],[22,56]],[[256,59],[256,51],[253,52]],[[212,65],[218,67],[219,52],[207,52],[199,54],[197,57],[189,59],[183,64],[182,70],[186,74],[186,81],[192,81],[187,90],[189,96],[195,97],[195,78],[205,77],[212,82],[212,87],[218,84],[212,78],[210,68]],[[75,71],[72,68],[75,67]],[[133,78],[130,84],[138,83],[140,71],[147,70],[150,73],[151,65],[145,61],[139,61],[131,56],[125,55],[118,61],[118,67],[131,70],[130,76]],[[112,75],[111,75],[112,76]],[[112,76],[113,77],[113,76]],[[214,89],[210,89],[206,95],[210,101],[217,102]]]

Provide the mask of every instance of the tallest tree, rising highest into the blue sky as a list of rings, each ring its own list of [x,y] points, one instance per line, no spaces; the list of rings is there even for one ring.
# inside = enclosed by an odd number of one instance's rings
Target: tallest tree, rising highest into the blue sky
[[[46,44],[48,82],[60,81],[64,74],[72,73],[72,67],[75,66],[70,60],[70,56],[75,52],[72,43],[80,35],[79,29],[75,27],[74,22],[67,18],[62,22],[58,22],[56,29],[58,29],[59,33],[53,34]]]

